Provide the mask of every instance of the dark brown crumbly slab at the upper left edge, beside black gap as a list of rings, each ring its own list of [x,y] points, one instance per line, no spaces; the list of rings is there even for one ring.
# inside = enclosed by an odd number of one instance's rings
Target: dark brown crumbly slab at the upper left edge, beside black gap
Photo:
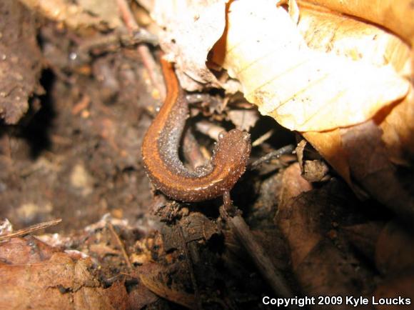
[[[43,92],[41,51],[36,19],[24,6],[1,1],[0,16],[0,116],[6,124],[16,124],[29,109],[31,94]]]

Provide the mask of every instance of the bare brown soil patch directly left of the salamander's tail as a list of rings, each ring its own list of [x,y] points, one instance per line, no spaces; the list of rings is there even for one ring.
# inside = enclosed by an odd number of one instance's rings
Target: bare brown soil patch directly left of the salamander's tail
[[[49,27],[42,49],[67,59],[61,49],[69,34]],[[141,65],[122,51],[72,68],[81,74],[54,71],[56,62],[43,71],[39,111],[3,128],[1,216],[16,228],[61,217],[59,231],[80,229],[107,212],[136,221],[151,204],[140,147],[151,121],[145,107],[156,103]]]

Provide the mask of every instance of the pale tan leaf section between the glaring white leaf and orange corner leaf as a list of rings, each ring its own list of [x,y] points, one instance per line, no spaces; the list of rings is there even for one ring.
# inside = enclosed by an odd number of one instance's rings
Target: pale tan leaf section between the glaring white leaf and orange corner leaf
[[[310,49],[375,66],[391,64],[400,75],[410,75],[410,46],[374,24],[301,2],[298,29]]]

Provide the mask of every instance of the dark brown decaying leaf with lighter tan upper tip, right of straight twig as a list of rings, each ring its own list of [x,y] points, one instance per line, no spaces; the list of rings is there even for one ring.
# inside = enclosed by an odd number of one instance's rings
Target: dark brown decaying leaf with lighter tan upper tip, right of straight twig
[[[373,289],[368,281],[371,271],[360,264],[337,229],[341,225],[338,219],[345,219],[340,213],[349,209],[353,201],[335,188],[335,181],[322,189],[309,190],[300,174],[298,164],[284,172],[275,221],[291,249],[292,268],[304,294],[368,293]]]

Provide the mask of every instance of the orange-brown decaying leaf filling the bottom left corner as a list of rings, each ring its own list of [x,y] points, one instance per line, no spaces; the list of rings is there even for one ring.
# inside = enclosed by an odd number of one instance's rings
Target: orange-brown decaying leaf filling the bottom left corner
[[[91,259],[74,260],[30,239],[0,244],[2,308],[126,309],[125,286],[101,287]]]

